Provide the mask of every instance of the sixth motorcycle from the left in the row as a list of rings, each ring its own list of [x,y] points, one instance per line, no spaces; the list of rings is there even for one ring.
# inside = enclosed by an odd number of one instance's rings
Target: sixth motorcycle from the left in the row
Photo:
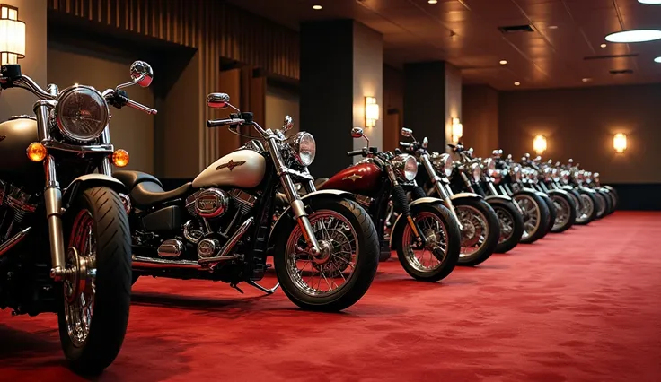
[[[542,193],[527,186],[524,179],[536,179],[533,173],[526,171],[520,164],[512,160],[512,155],[502,158],[502,150],[494,150],[491,158],[494,160],[495,170],[499,172],[498,187],[488,189],[489,193],[508,195],[518,205],[524,218],[524,234],[520,242],[531,244],[542,239],[549,229],[551,213],[549,204],[542,199]]]

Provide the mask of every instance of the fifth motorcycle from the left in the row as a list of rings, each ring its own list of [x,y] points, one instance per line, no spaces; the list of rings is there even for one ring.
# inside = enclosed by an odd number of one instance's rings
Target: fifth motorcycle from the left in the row
[[[519,243],[524,235],[523,212],[508,195],[500,195],[493,184],[496,172],[496,162],[492,158],[483,161],[472,157],[472,149],[464,150],[462,144],[452,146],[459,156],[454,164],[450,185],[456,192],[469,191],[484,197],[498,215],[500,237],[496,253],[507,253]],[[489,194],[485,192],[489,190]]]

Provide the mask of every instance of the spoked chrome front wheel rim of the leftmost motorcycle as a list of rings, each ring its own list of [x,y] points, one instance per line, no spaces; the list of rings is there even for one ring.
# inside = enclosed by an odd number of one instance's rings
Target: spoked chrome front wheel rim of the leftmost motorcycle
[[[66,251],[64,303],[66,332],[75,347],[87,342],[96,295],[96,239],[92,213],[82,210],[75,218]]]

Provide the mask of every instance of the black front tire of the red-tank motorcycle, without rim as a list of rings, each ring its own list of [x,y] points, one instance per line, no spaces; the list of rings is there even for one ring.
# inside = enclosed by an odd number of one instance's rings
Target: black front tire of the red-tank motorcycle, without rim
[[[459,230],[457,221],[454,219],[452,213],[450,213],[450,210],[440,203],[416,204],[411,207],[410,213],[414,220],[420,213],[432,213],[436,215],[445,229],[447,250],[445,257],[436,269],[427,271],[416,269],[405,253],[405,243],[403,242],[403,234],[405,230],[410,229],[410,226],[406,221],[400,220],[400,223],[398,223],[392,230],[392,234],[395,235],[392,237],[392,240],[394,242],[394,247],[397,249],[397,257],[400,259],[401,266],[411,277],[422,282],[437,282],[445,279],[448,274],[452,273],[454,267],[457,265],[459,253],[462,249],[462,232]],[[406,246],[408,247],[408,245]]]

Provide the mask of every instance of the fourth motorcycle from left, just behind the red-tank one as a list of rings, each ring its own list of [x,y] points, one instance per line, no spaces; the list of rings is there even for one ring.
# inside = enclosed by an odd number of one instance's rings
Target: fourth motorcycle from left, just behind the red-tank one
[[[445,207],[459,222],[462,232],[462,253],[459,255],[458,264],[473,266],[483,263],[498,247],[498,215],[480,195],[470,192],[454,194],[448,180],[454,171],[454,162],[449,154],[429,154],[427,137],[419,143],[413,136],[413,131],[408,128],[402,128],[401,135],[411,140],[411,143],[400,142],[401,147],[417,157],[425,169],[418,172],[416,182],[423,185],[427,191],[425,194],[412,195],[413,198],[440,195]]]

